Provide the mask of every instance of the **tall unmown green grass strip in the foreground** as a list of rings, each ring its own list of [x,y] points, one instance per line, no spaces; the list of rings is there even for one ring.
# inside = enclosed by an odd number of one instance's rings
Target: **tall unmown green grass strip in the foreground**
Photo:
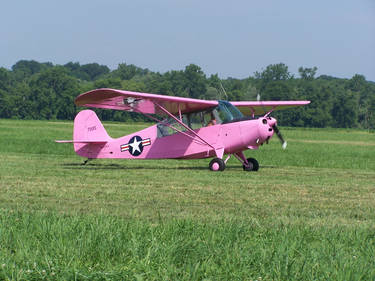
[[[150,223],[3,211],[0,277],[68,280],[371,280],[366,228],[252,220]]]

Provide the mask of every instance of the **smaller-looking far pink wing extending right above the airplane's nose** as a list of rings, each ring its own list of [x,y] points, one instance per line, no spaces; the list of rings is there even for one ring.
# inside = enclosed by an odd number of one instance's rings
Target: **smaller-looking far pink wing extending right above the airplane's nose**
[[[310,101],[231,101],[244,115],[263,115],[270,111],[309,104]]]

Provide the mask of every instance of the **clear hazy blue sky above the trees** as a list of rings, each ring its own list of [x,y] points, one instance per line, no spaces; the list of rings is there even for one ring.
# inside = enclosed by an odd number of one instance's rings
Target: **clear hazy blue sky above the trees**
[[[0,8],[0,67],[20,59],[119,63],[152,71],[190,63],[221,78],[269,64],[375,81],[374,0],[15,0]]]

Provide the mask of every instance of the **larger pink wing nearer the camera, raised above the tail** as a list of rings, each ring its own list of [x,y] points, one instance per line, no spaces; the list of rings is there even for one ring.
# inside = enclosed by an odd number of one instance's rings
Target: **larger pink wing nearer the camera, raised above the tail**
[[[160,108],[163,107],[169,113],[176,115],[180,112],[182,114],[214,107],[218,105],[218,102],[103,88],[79,95],[75,99],[75,104],[143,114],[165,115],[165,112]]]

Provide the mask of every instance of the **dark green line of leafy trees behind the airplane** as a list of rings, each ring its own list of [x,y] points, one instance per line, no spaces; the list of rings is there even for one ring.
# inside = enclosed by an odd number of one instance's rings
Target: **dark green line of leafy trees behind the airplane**
[[[0,118],[73,120],[81,110],[75,97],[96,88],[116,88],[162,95],[223,100],[310,100],[305,107],[275,112],[283,126],[375,127],[375,83],[363,75],[340,79],[316,77],[316,67],[300,67],[294,77],[288,66],[267,66],[245,79],[207,76],[190,64],[183,70],[153,72],[121,63],[105,65],[69,62],[54,65],[20,60],[10,70],[0,68]],[[140,114],[96,110],[103,120],[146,120]]]

